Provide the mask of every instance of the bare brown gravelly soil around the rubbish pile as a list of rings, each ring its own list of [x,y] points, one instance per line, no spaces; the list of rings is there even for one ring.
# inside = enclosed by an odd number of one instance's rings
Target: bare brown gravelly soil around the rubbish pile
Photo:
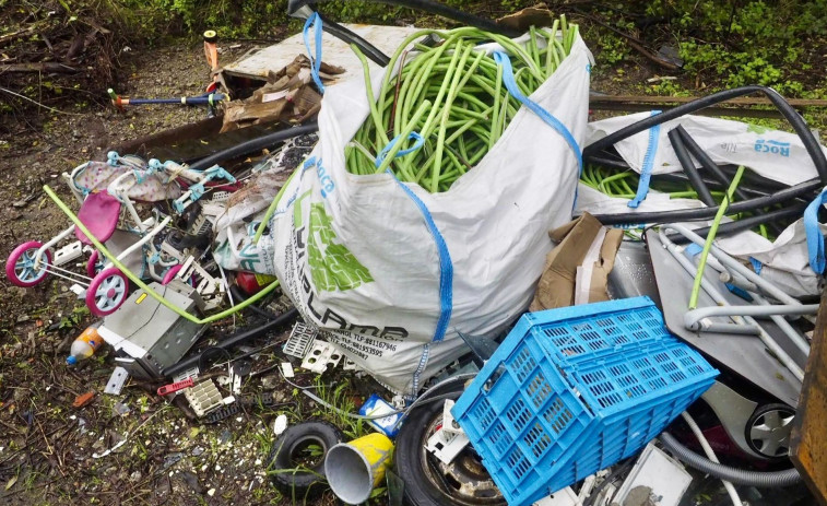
[[[223,61],[237,58],[249,45],[224,47]],[[178,43],[146,52],[129,52],[126,74],[117,91],[132,96],[196,95],[209,74],[200,43]],[[593,89],[635,93],[640,83],[658,74],[639,61],[629,61],[623,85],[616,69],[596,72]],[[204,109],[144,106],[119,113],[111,106],[81,111],[61,107],[4,125],[0,131],[0,257],[19,244],[42,240],[69,226],[42,187],[48,184],[67,202],[73,202],[60,174],[91,158],[103,158],[109,146],[137,137],[182,126],[205,117]],[[11,285],[0,276],[0,503],[46,504],[293,504],[273,489],[265,475],[273,422],[286,414],[291,423],[333,415],[307,400],[275,370],[244,387],[249,396],[273,392],[274,404],[255,399],[245,410],[223,422],[205,425],[186,416],[178,407],[151,393],[156,386],[127,384],[120,396],[103,393],[114,357],[103,352],[76,367],[64,363],[72,340],[93,318],[69,291],[69,282],[52,279],[33,289]],[[233,327],[257,323],[236,319]],[[288,329],[262,337],[284,339]],[[253,370],[284,361],[273,349],[255,356]],[[297,364],[294,364],[297,365]],[[299,374],[302,386],[315,385],[338,405],[353,409],[371,391],[342,389],[343,380],[326,374],[315,379]],[[94,392],[90,403],[73,408],[75,399]],[[338,397],[336,397],[338,396]],[[339,420],[340,426],[343,423]],[[351,427],[351,435],[361,428]],[[113,451],[108,451],[113,449]],[[711,494],[711,493],[710,493]],[[377,504],[382,504],[379,499]],[[310,504],[334,504],[332,494]]]

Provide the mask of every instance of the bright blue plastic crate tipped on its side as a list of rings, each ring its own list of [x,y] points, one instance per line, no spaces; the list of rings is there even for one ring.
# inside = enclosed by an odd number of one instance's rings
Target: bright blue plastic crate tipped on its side
[[[612,301],[524,315],[452,413],[522,506],[637,452],[717,375],[648,297]]]

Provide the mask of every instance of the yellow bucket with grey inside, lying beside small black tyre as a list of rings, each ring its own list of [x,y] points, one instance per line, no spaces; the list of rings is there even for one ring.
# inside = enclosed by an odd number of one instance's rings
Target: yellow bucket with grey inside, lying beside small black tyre
[[[328,450],[324,474],[333,493],[345,504],[362,504],[385,480],[391,462],[393,442],[373,433]]]

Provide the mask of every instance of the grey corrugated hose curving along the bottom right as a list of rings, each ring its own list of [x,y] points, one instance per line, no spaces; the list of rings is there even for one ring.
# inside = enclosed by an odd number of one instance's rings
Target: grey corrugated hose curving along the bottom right
[[[670,450],[672,455],[685,464],[736,485],[775,489],[779,486],[791,486],[801,482],[801,474],[799,474],[799,471],[795,468],[772,472],[731,468],[722,463],[712,462],[708,458],[692,451],[689,448],[678,443],[670,433],[662,433],[660,439],[663,447]]]

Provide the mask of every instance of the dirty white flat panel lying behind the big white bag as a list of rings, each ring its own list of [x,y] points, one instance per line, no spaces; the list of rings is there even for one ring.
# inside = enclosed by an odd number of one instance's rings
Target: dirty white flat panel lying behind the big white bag
[[[399,47],[405,37],[420,30],[407,26],[363,24],[345,24],[344,26],[378,47],[388,56],[391,56],[397,50],[397,47]],[[363,78],[362,62],[347,44],[326,33],[321,38],[321,59],[326,63],[344,68],[344,74],[336,77],[339,81],[345,81],[351,78]],[[292,62],[297,55],[306,54],[307,48],[299,33],[285,38],[279,44],[249,51],[237,61],[224,66],[222,72],[228,75],[264,79],[269,71],[277,72]],[[381,68],[373,61],[369,61],[369,66],[371,75],[376,75],[381,71]],[[331,83],[330,85],[335,85],[335,83]]]

